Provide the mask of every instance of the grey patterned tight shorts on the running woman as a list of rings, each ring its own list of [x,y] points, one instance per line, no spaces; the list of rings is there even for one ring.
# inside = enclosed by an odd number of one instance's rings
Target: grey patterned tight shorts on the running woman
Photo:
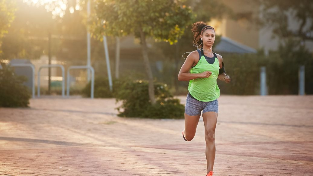
[[[189,93],[188,93],[189,94]],[[185,113],[187,115],[200,115],[205,112],[216,112],[218,113],[218,100],[203,102],[192,98],[187,95]]]

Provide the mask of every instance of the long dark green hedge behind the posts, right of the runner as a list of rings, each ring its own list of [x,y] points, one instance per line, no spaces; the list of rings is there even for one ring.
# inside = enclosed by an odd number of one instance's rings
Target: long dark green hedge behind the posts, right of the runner
[[[223,57],[231,82],[224,84],[218,80],[222,94],[259,95],[260,68],[265,66],[269,95],[297,95],[300,65],[305,65],[305,93],[313,93],[312,53],[300,43],[289,41],[278,51],[270,52],[269,56],[264,56],[261,51],[257,54],[223,54]]]

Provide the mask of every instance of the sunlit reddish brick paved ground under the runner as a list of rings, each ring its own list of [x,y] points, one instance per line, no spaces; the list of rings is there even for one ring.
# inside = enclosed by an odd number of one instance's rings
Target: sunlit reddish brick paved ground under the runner
[[[313,96],[218,101],[215,176],[313,175]],[[184,120],[120,118],[118,105],[43,97],[0,108],[0,175],[206,175],[203,121],[185,142]]]

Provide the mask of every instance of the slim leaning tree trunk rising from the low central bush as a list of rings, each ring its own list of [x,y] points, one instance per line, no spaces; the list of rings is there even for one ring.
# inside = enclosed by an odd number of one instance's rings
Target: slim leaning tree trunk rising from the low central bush
[[[149,81],[149,99],[151,101],[151,104],[154,105],[156,103],[155,97],[154,97],[154,85],[153,85],[153,76],[152,71],[149,64],[149,58],[148,58],[148,47],[146,44],[146,36],[142,29],[140,28],[140,36],[141,36],[141,46],[142,46],[142,56],[143,56],[143,63],[145,65],[146,73],[148,75],[148,81]]]

